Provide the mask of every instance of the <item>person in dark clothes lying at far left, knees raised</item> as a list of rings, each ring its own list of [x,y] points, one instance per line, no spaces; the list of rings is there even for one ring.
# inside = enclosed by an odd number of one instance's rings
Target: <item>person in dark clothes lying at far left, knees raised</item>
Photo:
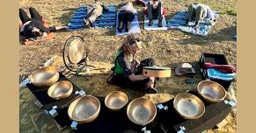
[[[42,16],[33,7],[29,8],[29,13],[31,18],[28,17],[26,11],[19,9],[19,18],[22,22],[19,33],[26,39],[47,38],[50,31],[67,29],[67,26],[45,27]]]

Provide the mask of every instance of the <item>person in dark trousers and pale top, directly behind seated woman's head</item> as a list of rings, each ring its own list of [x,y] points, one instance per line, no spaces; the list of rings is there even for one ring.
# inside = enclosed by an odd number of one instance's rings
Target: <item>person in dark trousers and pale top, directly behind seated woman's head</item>
[[[125,31],[128,31],[131,28],[131,22],[135,18],[136,13],[137,11],[131,2],[121,5],[121,9],[118,14],[119,22],[117,30],[121,32],[123,26],[125,26]]]

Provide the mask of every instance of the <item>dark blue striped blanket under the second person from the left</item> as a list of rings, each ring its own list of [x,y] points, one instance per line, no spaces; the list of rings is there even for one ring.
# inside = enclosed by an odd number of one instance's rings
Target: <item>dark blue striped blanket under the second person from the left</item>
[[[115,10],[116,7],[114,4],[106,5],[108,11],[103,12],[103,14],[97,18],[92,24],[95,28],[113,28],[115,24]],[[84,29],[84,18],[87,18],[88,11],[87,6],[81,6],[77,9],[74,16],[69,22],[69,31]]]

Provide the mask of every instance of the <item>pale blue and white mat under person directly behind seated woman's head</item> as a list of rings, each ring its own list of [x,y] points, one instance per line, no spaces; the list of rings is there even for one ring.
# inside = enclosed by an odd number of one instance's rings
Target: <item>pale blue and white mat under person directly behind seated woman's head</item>
[[[138,17],[137,15],[135,14],[135,18],[133,19],[133,21],[131,22],[131,29],[127,32],[125,31],[124,29],[119,32],[117,30],[117,27],[118,27],[118,18],[116,18],[116,28],[115,28],[115,34],[116,35],[126,35],[128,33],[141,33],[141,29],[140,29],[140,25],[139,25],[139,21],[138,21]]]

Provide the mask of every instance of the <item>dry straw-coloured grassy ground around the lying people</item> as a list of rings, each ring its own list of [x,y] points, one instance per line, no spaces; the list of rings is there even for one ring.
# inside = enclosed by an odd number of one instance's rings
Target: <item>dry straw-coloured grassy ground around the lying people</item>
[[[187,10],[188,4],[201,2],[208,4],[213,10],[221,11],[207,37],[195,36],[178,30],[145,31],[143,29],[143,6],[134,4],[138,11],[138,19],[142,30],[141,39],[143,50],[139,58],[152,57],[159,66],[171,66],[172,69],[179,62],[190,62],[198,67],[198,60],[202,52],[223,53],[229,63],[237,66],[236,35],[236,0],[162,0],[167,9],[166,20],[172,18],[177,11]],[[19,7],[26,11],[34,7],[46,18],[49,25],[67,25],[74,11],[81,4],[91,4],[92,0],[19,0]],[[118,0],[104,0],[105,4],[119,4]],[[65,41],[71,35],[84,38],[90,49],[89,59],[94,61],[113,62],[113,56],[121,46],[124,36],[115,36],[113,29],[84,29],[82,31],[57,32],[56,38],[33,45],[19,44],[19,79],[24,80],[27,75],[38,69],[43,62],[52,56],[62,56]],[[199,71],[198,71],[199,73]],[[236,82],[233,83],[236,96]],[[225,130],[208,130],[208,132],[236,132],[236,113],[230,116],[229,126]]]

